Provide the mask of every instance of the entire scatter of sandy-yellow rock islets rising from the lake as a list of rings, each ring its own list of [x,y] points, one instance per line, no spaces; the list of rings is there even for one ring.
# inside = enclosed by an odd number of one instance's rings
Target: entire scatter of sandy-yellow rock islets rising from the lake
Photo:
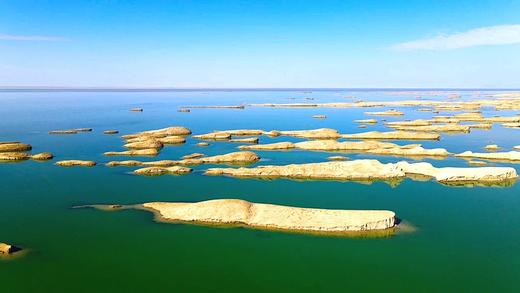
[[[353,97],[347,97],[355,99]],[[250,104],[231,106],[186,106],[179,112],[190,112],[190,108],[235,108],[247,107],[291,107],[291,108],[366,108],[390,107],[379,112],[365,112],[371,117],[405,115],[393,107],[410,108],[415,111],[431,112],[430,119],[417,119],[387,122],[384,118],[367,118],[355,120],[360,128],[366,125],[383,123],[388,131],[369,131],[342,134],[335,129],[319,128],[308,130],[261,130],[232,129],[216,130],[210,133],[192,135],[192,131],[182,126],[171,126],[163,129],[146,130],[121,136],[123,151],[107,151],[110,157],[144,157],[157,156],[161,149],[168,145],[186,143],[186,137],[192,136],[200,140],[197,146],[204,148],[219,141],[238,144],[238,151],[216,156],[201,153],[186,154],[175,160],[113,160],[107,167],[133,167],[133,174],[143,176],[185,175],[193,170],[190,166],[203,164],[229,165],[226,168],[208,168],[205,175],[231,176],[237,178],[287,178],[313,180],[350,180],[350,181],[386,181],[398,184],[403,179],[418,181],[435,180],[445,185],[469,186],[511,186],[518,178],[515,168],[490,167],[488,162],[520,162],[520,145],[512,150],[502,150],[498,145],[482,146],[483,151],[467,150],[452,153],[445,148],[424,148],[421,144],[399,144],[395,141],[439,141],[442,134],[469,133],[471,129],[490,130],[494,124],[507,128],[520,129],[520,115],[485,117],[482,109],[520,110],[519,93],[501,93],[487,96],[485,99],[470,101],[460,100],[458,95],[449,95],[446,100],[403,100],[366,102],[353,100],[345,103],[289,103],[289,104]],[[130,109],[142,112],[142,108]],[[453,115],[435,115],[440,111],[461,112]],[[316,119],[327,119],[325,115],[312,116]],[[51,135],[74,135],[80,132],[91,132],[91,128],[77,128],[49,131]],[[118,130],[104,130],[106,135],[118,134]],[[300,142],[260,143],[262,136],[296,137]],[[389,142],[394,141],[394,142]],[[0,142],[0,162],[38,160],[54,158],[50,152],[31,154],[32,146],[18,141]],[[251,166],[260,156],[255,151],[288,151],[292,149],[365,153],[379,156],[404,158],[445,159],[457,157],[466,159],[470,167],[435,167],[427,162],[409,163],[398,161],[382,163],[375,159],[350,160],[348,157],[334,155],[329,161],[318,163],[290,165]],[[56,166],[73,167],[96,166],[89,160],[59,160]],[[239,225],[257,229],[297,231],[320,234],[348,234],[386,232],[398,228],[395,212],[388,210],[332,210],[289,207],[272,204],[252,203],[238,199],[219,199],[203,202],[149,202],[138,205],[123,206],[92,205],[102,210],[119,210],[127,208],[144,209],[153,212],[156,218],[167,222],[202,223],[219,225]],[[11,255],[20,251],[16,246],[0,243],[0,255]]]

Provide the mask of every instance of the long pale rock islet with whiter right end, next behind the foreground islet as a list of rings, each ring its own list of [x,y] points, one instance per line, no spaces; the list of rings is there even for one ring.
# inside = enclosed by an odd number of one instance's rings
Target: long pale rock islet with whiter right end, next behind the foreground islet
[[[323,162],[291,164],[281,166],[258,166],[254,168],[210,168],[206,175],[227,175],[253,178],[291,179],[332,179],[352,181],[399,181],[404,178],[414,180],[432,178],[450,185],[510,185],[518,177],[510,167],[482,168],[436,168],[429,163],[384,164],[377,160],[353,160],[344,162]]]

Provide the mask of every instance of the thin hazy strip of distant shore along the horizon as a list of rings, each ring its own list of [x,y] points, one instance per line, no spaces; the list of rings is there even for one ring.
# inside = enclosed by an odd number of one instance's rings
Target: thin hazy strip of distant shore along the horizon
[[[520,91],[520,88],[104,88],[0,86],[0,92]]]

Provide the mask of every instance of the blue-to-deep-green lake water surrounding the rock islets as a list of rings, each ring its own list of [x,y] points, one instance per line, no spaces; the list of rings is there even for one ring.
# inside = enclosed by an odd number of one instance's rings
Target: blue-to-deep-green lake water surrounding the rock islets
[[[472,92],[463,92],[470,98]],[[123,150],[117,135],[182,125],[193,133],[215,129],[359,129],[353,109],[194,109],[181,105],[237,105],[262,102],[410,99],[381,91],[178,91],[178,92],[2,92],[0,141],[23,141],[33,152],[56,160],[87,159],[93,168],[62,168],[51,162],[0,164],[0,242],[27,248],[23,256],[0,259],[0,292],[518,292],[520,283],[520,185],[507,188],[447,187],[436,182],[234,179],[202,175],[140,177],[132,168],[108,168],[105,151]],[[314,101],[303,99],[312,97]],[[294,99],[289,99],[294,98]],[[425,99],[428,97],[425,96]],[[437,98],[437,97],[435,97]],[[144,112],[128,109],[142,107]],[[406,119],[429,112],[402,108]],[[312,119],[325,114],[327,119]],[[442,114],[442,113],[441,113]],[[490,109],[485,115],[496,115]],[[513,115],[515,111],[501,111]],[[387,118],[398,120],[402,118]],[[54,129],[92,127],[91,133],[49,135]],[[493,130],[443,135],[425,147],[480,151],[496,143],[520,144],[520,132]],[[262,143],[297,141],[261,137]],[[176,159],[237,150],[238,144],[197,140],[165,147],[157,159]],[[403,142],[407,143],[407,142]],[[257,164],[325,161],[326,152],[258,152]],[[401,158],[347,154],[352,159]],[[436,166],[467,166],[461,159],[425,160]],[[497,163],[500,166],[518,165]],[[335,209],[388,209],[416,227],[390,238],[338,238],[245,228],[165,224],[145,211],[72,209],[84,204],[201,201],[241,198],[253,202]]]

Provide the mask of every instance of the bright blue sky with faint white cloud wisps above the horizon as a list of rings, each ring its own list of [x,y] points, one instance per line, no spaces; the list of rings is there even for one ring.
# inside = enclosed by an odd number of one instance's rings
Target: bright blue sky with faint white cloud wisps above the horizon
[[[520,0],[0,0],[0,85],[520,88]]]

